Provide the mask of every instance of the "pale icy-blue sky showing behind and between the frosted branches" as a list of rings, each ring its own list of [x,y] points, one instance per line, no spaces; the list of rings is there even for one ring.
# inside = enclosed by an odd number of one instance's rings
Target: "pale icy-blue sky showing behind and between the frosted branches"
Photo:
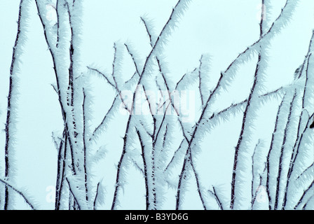
[[[156,32],[161,31],[176,0],[88,0],[84,1],[82,15],[83,43],[82,62],[95,64],[110,71],[114,41],[130,41],[139,56],[144,59],[150,48],[140,16],[146,15],[154,21]],[[221,70],[254,43],[259,36],[259,0],[194,0],[186,11],[179,27],[175,30],[165,47],[170,77],[174,82],[186,72],[198,66],[203,53],[212,55],[211,78],[216,80]],[[272,1],[271,18],[277,18],[284,0]],[[8,94],[8,74],[11,64],[12,47],[15,41],[18,19],[18,0],[0,0],[0,129],[4,129],[6,97]],[[57,151],[53,146],[51,132],[62,131],[62,118],[59,104],[50,83],[54,75],[50,54],[43,38],[43,29],[36,14],[34,1],[29,11],[28,39],[20,66],[20,99],[18,113],[18,141],[16,145],[18,176],[17,186],[27,189],[29,195],[39,202],[41,209],[53,209],[54,204],[46,201],[46,188],[55,185]],[[268,62],[268,87],[287,84],[292,80],[294,70],[303,62],[308,43],[314,28],[314,1],[301,0],[292,18],[292,22],[272,41]],[[125,55],[128,58],[128,55]],[[255,59],[245,64],[238,72],[235,88],[228,92],[224,101],[219,101],[217,109],[231,102],[245,99],[252,81],[252,69]],[[131,62],[125,60],[125,71]],[[129,71],[132,75],[133,71]],[[239,87],[240,86],[240,87]],[[95,80],[95,125],[102,113],[111,104],[114,92],[108,92],[108,85]],[[232,97],[230,97],[232,96]],[[271,102],[265,109],[261,120],[270,120],[270,124],[261,123],[264,135],[269,137],[275,119],[273,108],[277,102]],[[196,109],[197,110],[197,109]],[[269,116],[268,116],[269,115]],[[110,153],[98,167],[97,178],[104,177],[107,197],[104,209],[109,209],[113,195],[113,185],[117,164],[122,150],[125,117],[113,120],[111,130],[104,134],[101,144],[105,144]],[[228,124],[222,124],[203,144],[203,154],[199,156],[198,168],[205,170],[200,176],[205,186],[222,185],[228,193],[231,178],[233,147],[238,139],[240,117]],[[263,126],[262,126],[263,125]],[[268,132],[267,132],[268,130]],[[224,133],[224,134],[221,134]],[[174,149],[181,139],[176,139]],[[223,144],[221,144],[223,141]],[[206,151],[210,142],[214,151]],[[4,148],[4,132],[0,133],[0,149]],[[0,172],[3,176],[3,151],[0,150]],[[210,153],[210,154],[208,154]],[[207,156],[206,156],[207,155]],[[208,156],[210,155],[210,156]],[[231,155],[231,156],[228,156]],[[217,162],[219,161],[219,162]],[[201,169],[203,168],[203,169]],[[210,172],[208,172],[210,171]],[[144,185],[140,174],[130,169],[132,174],[125,197],[121,200],[124,209],[144,209]],[[140,183],[140,184],[139,184]],[[142,190],[139,190],[141,189]],[[196,188],[191,182],[190,196],[186,198],[186,209],[201,209]],[[169,190],[169,202],[165,209],[173,209],[174,190]],[[23,204],[21,204],[22,207]]]

